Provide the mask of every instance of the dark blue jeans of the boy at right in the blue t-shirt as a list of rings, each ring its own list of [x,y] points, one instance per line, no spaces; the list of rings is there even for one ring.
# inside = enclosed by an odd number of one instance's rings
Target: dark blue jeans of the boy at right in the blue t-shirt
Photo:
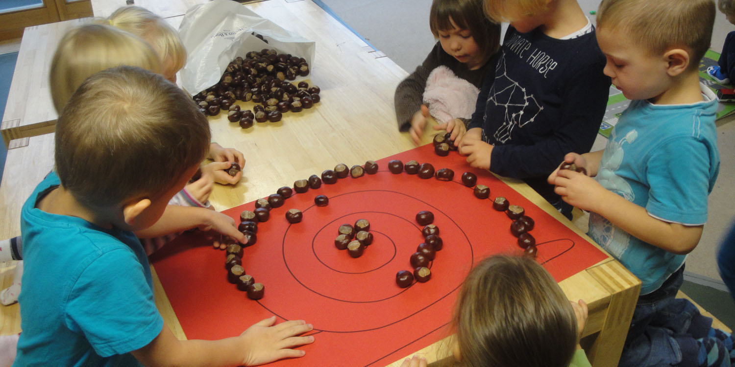
[[[697,338],[709,333],[712,319],[701,316],[692,302],[677,299],[684,266],[661,288],[639,297],[618,366],[697,366]]]

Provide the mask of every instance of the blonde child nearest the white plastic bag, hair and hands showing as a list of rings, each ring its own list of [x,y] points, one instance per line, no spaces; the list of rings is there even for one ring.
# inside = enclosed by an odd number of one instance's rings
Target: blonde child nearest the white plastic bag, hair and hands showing
[[[154,14],[150,10],[142,7],[126,6],[118,8],[112,15],[107,18],[107,22],[115,28],[122,29],[123,31],[130,32],[136,36],[143,38],[148,44],[150,44],[157,52],[162,62],[162,74],[163,76],[176,83],[176,73],[179,72],[186,64],[187,52],[184,48],[179,37],[179,32],[173,29],[165,19]],[[73,91],[72,91],[73,92]],[[235,161],[240,164],[240,167],[245,167],[245,157],[243,153],[233,148],[222,148],[221,145],[213,142],[209,145],[208,159],[212,159],[211,165],[209,165],[209,172],[212,173],[217,183],[225,183],[234,185],[242,177],[242,172],[237,172],[236,175],[231,176],[227,174],[226,170],[230,167],[230,162]],[[201,183],[200,183],[201,185]],[[187,185],[182,194],[187,189],[199,189],[197,187],[191,187]],[[209,186],[211,189],[211,185]],[[201,191],[201,189],[199,189]],[[201,206],[201,203],[207,201],[206,197],[204,200],[198,200],[204,195],[196,195],[196,193],[189,193],[193,195],[177,195],[180,200],[185,200],[187,203],[191,203],[195,206]],[[208,195],[208,192],[207,192]]]

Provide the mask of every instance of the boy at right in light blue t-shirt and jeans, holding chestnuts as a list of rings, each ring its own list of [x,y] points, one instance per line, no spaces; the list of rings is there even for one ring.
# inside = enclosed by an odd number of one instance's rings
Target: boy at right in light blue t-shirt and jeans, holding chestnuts
[[[589,236],[642,281],[620,366],[730,365],[731,337],[674,298],[720,166],[717,98],[698,76],[714,12],[712,0],[603,0],[605,73],[632,102],[605,150],[564,157],[591,177],[548,178],[567,203],[591,211]]]

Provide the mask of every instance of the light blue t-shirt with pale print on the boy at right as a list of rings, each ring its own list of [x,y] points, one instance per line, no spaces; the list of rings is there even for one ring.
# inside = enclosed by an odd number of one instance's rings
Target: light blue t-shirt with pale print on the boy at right
[[[644,207],[651,217],[703,225],[720,155],[714,126],[717,98],[701,88],[707,101],[631,102],[610,134],[595,179]],[[641,294],[658,289],[686,258],[641,241],[595,213],[589,215],[589,236],[640,278]]]

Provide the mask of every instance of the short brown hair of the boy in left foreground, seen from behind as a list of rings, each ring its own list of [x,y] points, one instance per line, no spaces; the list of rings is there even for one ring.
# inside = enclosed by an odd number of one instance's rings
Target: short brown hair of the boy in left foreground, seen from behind
[[[56,126],[62,186],[92,209],[157,197],[204,159],[209,123],[163,76],[120,66],[90,76]]]

